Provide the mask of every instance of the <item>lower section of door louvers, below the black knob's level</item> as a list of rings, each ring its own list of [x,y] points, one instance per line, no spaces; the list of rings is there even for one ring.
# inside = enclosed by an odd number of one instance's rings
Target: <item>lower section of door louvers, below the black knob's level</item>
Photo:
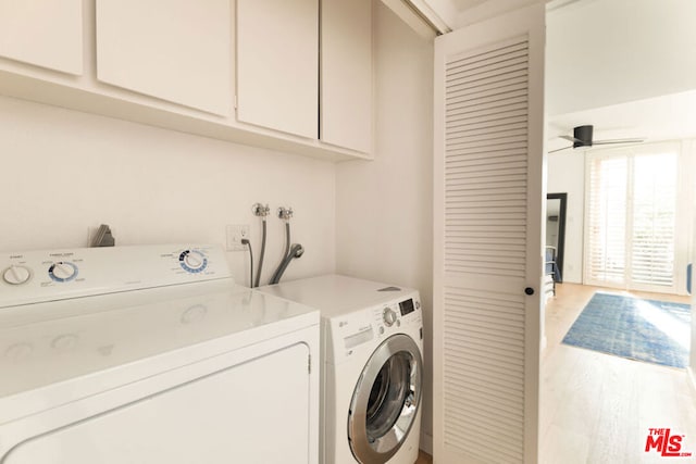
[[[457,447],[477,436],[493,446],[497,437],[506,443],[496,447],[500,462],[521,462],[524,301],[478,294],[445,290],[446,441]]]

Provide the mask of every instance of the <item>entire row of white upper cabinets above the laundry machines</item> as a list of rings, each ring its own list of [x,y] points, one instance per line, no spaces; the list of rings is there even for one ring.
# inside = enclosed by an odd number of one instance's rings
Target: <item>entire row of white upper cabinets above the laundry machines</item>
[[[0,0],[10,97],[351,160],[372,80],[372,0]]]

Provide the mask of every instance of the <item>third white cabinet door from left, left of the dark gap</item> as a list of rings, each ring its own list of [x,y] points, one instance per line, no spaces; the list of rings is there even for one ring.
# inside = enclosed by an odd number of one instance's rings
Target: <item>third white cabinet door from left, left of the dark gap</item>
[[[237,118],[319,137],[318,0],[237,1]]]

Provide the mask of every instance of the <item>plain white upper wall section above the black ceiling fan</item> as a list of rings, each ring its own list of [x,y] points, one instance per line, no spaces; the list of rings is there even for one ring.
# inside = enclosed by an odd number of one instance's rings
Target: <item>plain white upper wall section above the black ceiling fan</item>
[[[549,115],[693,89],[696,2],[583,0],[547,15]]]

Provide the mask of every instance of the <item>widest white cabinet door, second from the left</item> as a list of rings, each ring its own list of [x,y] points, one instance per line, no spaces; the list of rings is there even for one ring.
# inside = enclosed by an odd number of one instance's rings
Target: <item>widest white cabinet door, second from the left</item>
[[[97,77],[228,115],[231,27],[229,0],[97,0]]]

